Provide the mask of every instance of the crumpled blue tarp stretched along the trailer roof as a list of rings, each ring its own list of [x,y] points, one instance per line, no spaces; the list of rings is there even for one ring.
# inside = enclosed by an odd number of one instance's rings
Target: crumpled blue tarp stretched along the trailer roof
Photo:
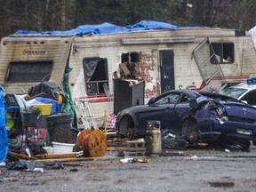
[[[150,29],[176,29],[176,28],[190,28],[190,27],[178,27],[170,23],[153,21],[153,20],[141,20],[140,22],[129,26],[117,26],[108,22],[99,25],[81,25],[75,29],[63,30],[63,31],[28,31],[18,30],[15,35],[86,35],[86,34],[115,34],[132,32],[139,30]]]

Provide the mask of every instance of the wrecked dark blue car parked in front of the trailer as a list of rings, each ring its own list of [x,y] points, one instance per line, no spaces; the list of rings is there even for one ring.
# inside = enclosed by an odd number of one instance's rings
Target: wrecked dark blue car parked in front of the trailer
[[[148,105],[125,108],[116,118],[117,135],[145,137],[148,121],[159,121],[161,132],[170,129],[190,144],[220,140],[250,148],[256,140],[256,108],[212,92],[172,90]]]

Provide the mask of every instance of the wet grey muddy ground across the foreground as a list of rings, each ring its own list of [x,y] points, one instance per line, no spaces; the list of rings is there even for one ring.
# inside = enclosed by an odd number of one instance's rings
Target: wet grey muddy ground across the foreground
[[[229,151],[229,152],[228,152]],[[196,147],[163,150],[161,156],[124,158],[148,163],[120,163],[117,151],[93,161],[62,163],[44,172],[0,173],[0,191],[255,191],[256,147],[237,149]]]

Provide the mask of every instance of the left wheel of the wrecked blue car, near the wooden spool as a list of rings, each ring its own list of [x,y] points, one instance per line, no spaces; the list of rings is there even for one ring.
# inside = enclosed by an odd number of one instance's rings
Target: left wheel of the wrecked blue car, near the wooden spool
[[[127,140],[132,140],[134,131],[134,124],[130,116],[124,116],[119,124],[119,133],[121,136],[127,138]]]

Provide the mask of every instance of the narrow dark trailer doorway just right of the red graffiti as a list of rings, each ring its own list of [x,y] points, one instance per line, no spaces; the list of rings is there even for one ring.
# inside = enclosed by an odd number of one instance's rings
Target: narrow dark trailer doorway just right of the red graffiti
[[[174,89],[174,53],[173,50],[164,50],[160,55],[161,93]]]

